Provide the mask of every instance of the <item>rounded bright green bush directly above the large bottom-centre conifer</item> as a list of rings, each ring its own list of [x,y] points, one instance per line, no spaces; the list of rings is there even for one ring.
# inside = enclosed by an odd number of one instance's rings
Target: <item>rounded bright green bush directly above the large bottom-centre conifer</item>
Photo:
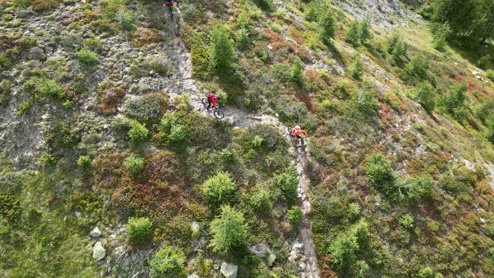
[[[235,183],[227,172],[218,172],[204,183],[202,190],[210,205],[219,206],[233,200]]]

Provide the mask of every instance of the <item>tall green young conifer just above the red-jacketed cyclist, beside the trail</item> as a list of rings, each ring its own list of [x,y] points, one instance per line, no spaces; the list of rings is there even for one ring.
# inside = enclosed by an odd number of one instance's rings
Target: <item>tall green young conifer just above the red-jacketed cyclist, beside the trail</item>
[[[233,63],[233,41],[230,38],[230,27],[218,24],[211,32],[211,52],[209,59],[213,68],[224,71]]]

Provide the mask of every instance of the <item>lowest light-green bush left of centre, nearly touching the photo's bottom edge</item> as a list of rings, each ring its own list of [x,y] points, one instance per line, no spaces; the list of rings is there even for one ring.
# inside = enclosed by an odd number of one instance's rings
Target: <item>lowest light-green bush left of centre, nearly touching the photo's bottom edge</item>
[[[167,274],[180,273],[186,260],[187,257],[181,248],[165,245],[153,254],[149,268],[156,277],[169,277]]]

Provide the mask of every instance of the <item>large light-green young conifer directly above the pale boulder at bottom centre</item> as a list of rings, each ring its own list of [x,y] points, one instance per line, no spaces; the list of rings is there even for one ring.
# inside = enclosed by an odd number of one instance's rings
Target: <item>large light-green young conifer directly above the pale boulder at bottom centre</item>
[[[229,205],[221,207],[221,214],[211,221],[211,244],[214,251],[226,253],[239,246],[247,237],[247,224],[244,215]]]

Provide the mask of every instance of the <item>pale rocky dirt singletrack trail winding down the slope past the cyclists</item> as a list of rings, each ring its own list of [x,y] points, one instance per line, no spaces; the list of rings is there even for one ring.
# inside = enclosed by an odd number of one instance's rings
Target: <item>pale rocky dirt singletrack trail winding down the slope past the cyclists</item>
[[[208,117],[214,117],[211,111],[206,111],[201,100],[206,96],[207,92],[201,92],[195,84],[195,80],[191,76],[191,57],[190,52],[182,41],[180,34],[182,32],[182,16],[180,9],[177,7],[175,14],[177,18],[176,24],[172,26],[174,30],[170,30],[173,42],[173,54],[171,56],[174,66],[180,71],[180,76],[177,76],[175,89],[169,91],[171,98],[181,96],[183,93],[190,95],[190,104],[195,111]],[[307,196],[309,189],[309,179],[306,177],[305,169],[308,162],[308,149],[303,150],[298,140],[294,140],[288,134],[288,127],[281,123],[278,118],[271,115],[251,113],[242,108],[232,108],[229,106],[221,106],[225,113],[223,120],[230,121],[235,127],[246,128],[255,123],[263,123],[271,125],[280,131],[287,140],[291,142],[290,152],[296,153],[296,159],[292,161],[299,173],[298,197],[301,200],[300,208],[304,213],[304,217],[299,227],[299,235],[292,242],[292,251],[290,258],[298,263],[302,270],[302,278],[319,278],[319,266],[317,263],[316,252],[314,249],[314,240],[312,238],[312,216],[310,215],[310,202]],[[299,251],[300,256],[294,255]],[[294,256],[292,256],[292,254]]]

